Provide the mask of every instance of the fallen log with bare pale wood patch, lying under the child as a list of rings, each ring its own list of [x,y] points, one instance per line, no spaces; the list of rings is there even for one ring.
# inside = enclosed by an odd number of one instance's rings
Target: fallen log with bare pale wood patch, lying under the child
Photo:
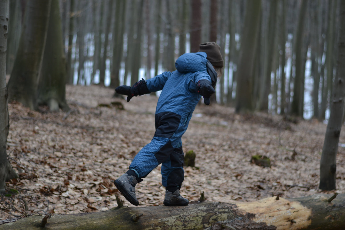
[[[345,194],[253,202],[193,201],[188,206],[119,207],[102,212],[35,215],[0,230],[36,229],[345,229]]]

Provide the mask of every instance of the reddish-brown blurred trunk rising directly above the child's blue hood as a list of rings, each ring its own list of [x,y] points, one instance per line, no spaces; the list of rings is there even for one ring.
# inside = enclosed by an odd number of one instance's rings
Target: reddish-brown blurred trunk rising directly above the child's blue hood
[[[191,4],[190,52],[195,53],[201,43],[201,0],[192,0]]]

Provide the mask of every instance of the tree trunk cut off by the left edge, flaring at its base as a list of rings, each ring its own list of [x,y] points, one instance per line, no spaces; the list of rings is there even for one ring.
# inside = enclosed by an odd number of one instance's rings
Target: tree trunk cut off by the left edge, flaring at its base
[[[18,178],[7,159],[7,135],[10,127],[6,87],[6,47],[9,0],[0,1],[0,193],[5,191],[5,182]]]

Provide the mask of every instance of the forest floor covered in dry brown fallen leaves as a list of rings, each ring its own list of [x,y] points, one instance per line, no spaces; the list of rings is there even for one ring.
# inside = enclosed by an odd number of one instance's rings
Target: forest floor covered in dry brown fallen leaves
[[[69,112],[30,111],[9,104],[7,153],[19,179],[7,182],[0,219],[28,214],[82,213],[116,207],[113,181],[155,132],[157,98],[112,98],[113,89],[67,86]],[[121,106],[112,104],[120,102]],[[184,152],[196,153],[196,167],[185,167],[181,194],[190,201],[202,192],[209,201],[254,201],[273,195],[306,197],[345,193],[345,148],[337,154],[337,190],[318,189],[326,125],[317,120],[287,121],[266,113],[240,115],[234,108],[197,105],[183,136]],[[339,143],[345,143],[344,131]],[[271,167],[251,163],[270,158]],[[139,206],[163,205],[160,166],[136,186]]]

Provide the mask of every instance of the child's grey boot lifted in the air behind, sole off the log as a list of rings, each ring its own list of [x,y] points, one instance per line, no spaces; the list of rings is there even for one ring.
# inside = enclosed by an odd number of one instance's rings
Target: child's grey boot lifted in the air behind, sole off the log
[[[135,196],[135,185],[138,183],[135,176],[128,175],[127,173],[120,176],[114,181],[116,188],[124,195],[126,200],[131,204],[138,205],[139,201]]]

